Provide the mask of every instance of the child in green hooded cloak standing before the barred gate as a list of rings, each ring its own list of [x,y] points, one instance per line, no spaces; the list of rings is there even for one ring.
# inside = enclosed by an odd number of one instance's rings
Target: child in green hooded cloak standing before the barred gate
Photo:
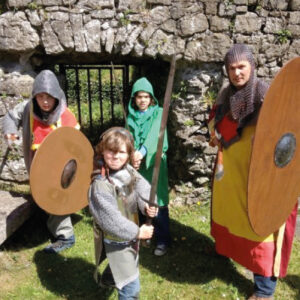
[[[151,183],[162,108],[158,106],[153,87],[147,78],[140,78],[134,83],[128,111],[128,127],[134,137],[134,146],[136,149],[133,166]],[[164,255],[167,252],[167,248],[171,242],[168,210],[167,150],[168,138],[167,132],[165,132],[157,186],[159,211],[157,217],[154,219],[154,235],[157,242],[154,254],[158,256]]]

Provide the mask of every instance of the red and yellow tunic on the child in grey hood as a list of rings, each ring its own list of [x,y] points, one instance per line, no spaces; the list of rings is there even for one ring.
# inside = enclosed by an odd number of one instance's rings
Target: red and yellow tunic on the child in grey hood
[[[32,132],[31,150],[33,151],[37,150],[40,144],[43,142],[44,138],[58,127],[68,126],[74,127],[76,129],[80,128],[80,125],[77,123],[75,116],[68,108],[65,109],[65,111],[62,113],[59,120],[55,124],[46,125],[35,118],[33,114],[31,114],[30,122]]]

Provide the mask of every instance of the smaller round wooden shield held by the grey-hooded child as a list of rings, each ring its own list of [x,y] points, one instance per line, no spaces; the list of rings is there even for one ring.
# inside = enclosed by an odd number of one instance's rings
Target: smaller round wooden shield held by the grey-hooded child
[[[88,204],[93,148],[79,130],[60,127],[38,148],[30,168],[35,202],[54,215],[74,213]]]

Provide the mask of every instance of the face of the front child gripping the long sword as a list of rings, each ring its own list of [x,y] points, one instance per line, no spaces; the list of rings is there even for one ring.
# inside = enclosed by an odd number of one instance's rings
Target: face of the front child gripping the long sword
[[[128,161],[128,158],[129,156],[125,143],[120,144],[118,152],[109,149],[103,151],[103,159],[111,170],[120,170]]]

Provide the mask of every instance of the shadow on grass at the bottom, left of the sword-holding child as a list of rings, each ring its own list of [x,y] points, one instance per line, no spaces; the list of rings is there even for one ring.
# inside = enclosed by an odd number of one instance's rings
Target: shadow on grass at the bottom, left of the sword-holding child
[[[112,289],[99,288],[94,279],[95,266],[82,258],[35,253],[33,261],[41,284],[64,299],[108,299]]]

